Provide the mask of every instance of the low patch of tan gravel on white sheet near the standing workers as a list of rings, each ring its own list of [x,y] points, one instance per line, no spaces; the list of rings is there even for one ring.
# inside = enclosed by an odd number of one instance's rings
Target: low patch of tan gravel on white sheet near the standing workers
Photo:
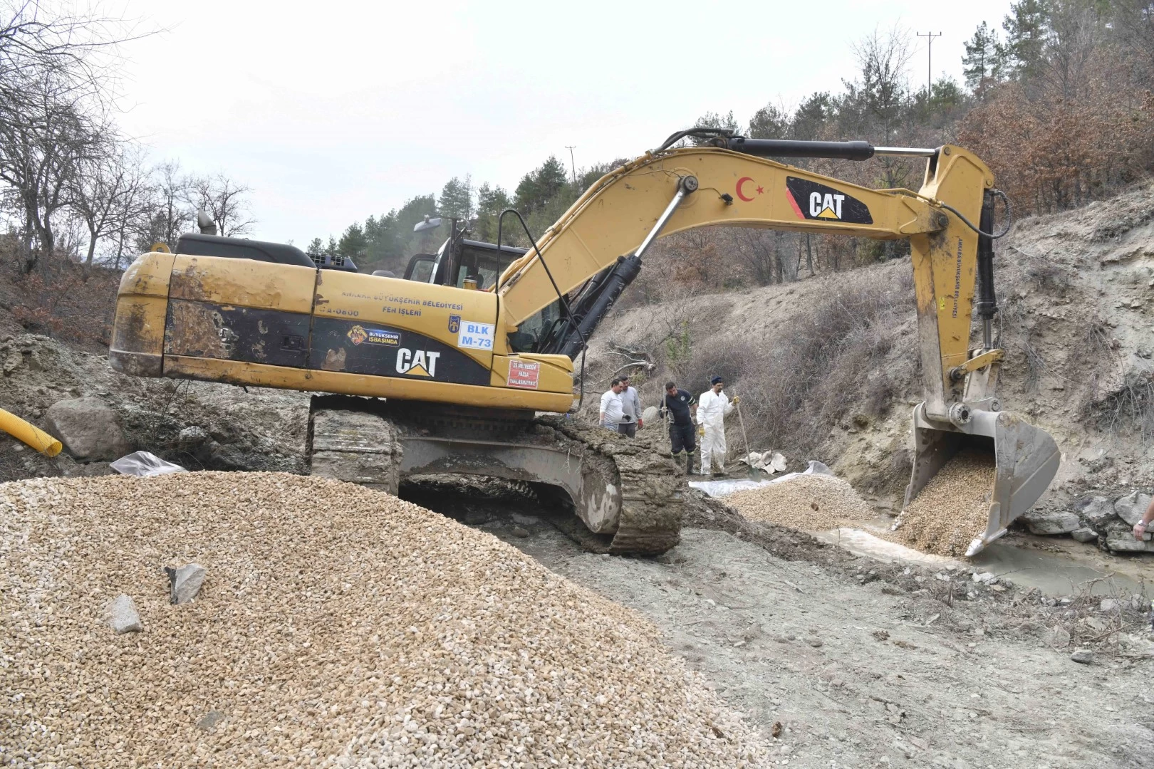
[[[797,475],[788,481],[735,491],[726,495],[724,502],[751,521],[767,521],[803,531],[832,529],[847,521],[875,517],[849,483],[832,475]]]

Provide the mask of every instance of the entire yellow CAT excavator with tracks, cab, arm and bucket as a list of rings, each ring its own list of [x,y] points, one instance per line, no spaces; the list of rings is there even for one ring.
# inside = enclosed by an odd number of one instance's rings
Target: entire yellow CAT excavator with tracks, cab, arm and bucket
[[[879,154],[926,158],[921,189],[875,190],[781,161]],[[690,129],[607,173],[530,235],[531,248],[502,246],[503,235],[470,241],[455,225],[404,278],[291,246],[186,234],[175,254],[145,254],[125,272],[108,360],[143,377],[328,393],[312,400],[314,474],[391,492],[404,477],[439,473],[525,481],[571,511],[590,549],[659,553],[677,543],[682,515],[668,451],[541,414],[579,402],[575,361],[584,367],[590,336],[653,241],[709,226],[906,239],[924,380],[906,504],[960,448],[991,453],[997,475],[973,555],[1058,467],[1054,439],[1003,412],[995,393],[999,196],[989,168],[958,146]],[[502,227],[524,227],[505,213]]]

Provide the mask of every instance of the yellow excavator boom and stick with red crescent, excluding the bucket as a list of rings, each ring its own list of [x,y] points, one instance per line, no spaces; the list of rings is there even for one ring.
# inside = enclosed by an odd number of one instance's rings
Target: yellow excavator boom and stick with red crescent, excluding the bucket
[[[771,144],[764,151],[777,150]],[[557,301],[557,292],[582,286],[620,256],[639,259],[655,236],[685,229],[757,227],[908,239],[922,369],[935,372],[927,379],[927,410],[947,419],[949,405],[961,398],[964,386],[950,372],[969,359],[977,233],[942,203],[977,221],[994,176],[956,146],[939,148],[927,166],[926,182],[915,194],[859,187],[714,146],[647,153],[601,178],[540,236],[537,250],[509,265],[497,284],[504,330],[515,332]]]

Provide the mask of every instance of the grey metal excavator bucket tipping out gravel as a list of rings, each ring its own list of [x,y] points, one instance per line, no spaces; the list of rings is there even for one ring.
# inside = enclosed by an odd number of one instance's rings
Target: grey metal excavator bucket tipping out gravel
[[[997,467],[994,485],[984,497],[989,514],[984,531],[975,531],[966,549],[974,556],[1006,533],[1016,518],[1029,510],[1058,472],[1061,454],[1049,432],[1013,414],[972,410],[969,421],[956,425],[926,416],[924,404],[914,407],[914,469],[906,487],[905,506],[962,450],[988,452]]]

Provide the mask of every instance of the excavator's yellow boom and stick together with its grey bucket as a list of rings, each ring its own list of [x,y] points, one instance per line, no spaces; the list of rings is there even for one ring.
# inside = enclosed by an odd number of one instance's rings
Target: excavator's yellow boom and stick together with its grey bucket
[[[759,227],[908,239],[924,401],[914,410],[915,460],[906,505],[962,447],[981,444],[994,455],[997,473],[988,526],[967,549],[974,555],[1002,536],[1046,491],[1057,473],[1059,453],[1048,433],[1003,413],[995,395],[1005,354],[992,347],[990,338],[996,311],[994,175],[959,146],[889,151],[927,157],[917,193],[868,189],[757,157],[864,159],[875,148],[863,142],[722,136],[714,145],[646,153],[600,179],[542,234],[535,250],[508,267],[499,282],[504,329],[516,332],[518,324],[559,301],[560,294],[613,270],[615,262],[635,263],[629,273],[636,274],[653,240],[685,229]],[[612,307],[612,299],[592,317],[574,318],[574,324],[583,325],[582,340]],[[979,347],[971,346],[975,308],[983,322]],[[578,348],[570,342],[562,349]]]

